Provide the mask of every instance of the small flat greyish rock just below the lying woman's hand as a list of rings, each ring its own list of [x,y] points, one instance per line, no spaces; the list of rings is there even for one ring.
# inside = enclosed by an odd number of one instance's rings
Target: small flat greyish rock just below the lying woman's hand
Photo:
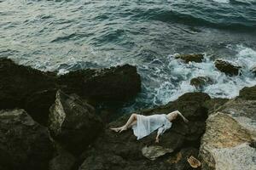
[[[167,153],[172,153],[172,149],[166,149],[162,146],[144,146],[142,149],[143,156],[147,157],[149,160],[154,161],[160,156],[164,156]]]

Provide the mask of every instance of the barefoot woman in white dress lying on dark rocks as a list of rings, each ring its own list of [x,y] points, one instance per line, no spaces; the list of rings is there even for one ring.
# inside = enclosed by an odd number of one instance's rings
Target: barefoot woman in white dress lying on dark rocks
[[[110,128],[116,133],[121,133],[122,131],[127,130],[132,127],[133,133],[137,136],[137,139],[142,139],[148,134],[153,133],[154,130],[158,129],[155,142],[159,143],[159,136],[166,132],[167,129],[172,127],[172,121],[181,116],[184,122],[189,122],[181,112],[172,111],[171,113],[166,114],[156,114],[151,116],[143,116],[138,114],[131,114],[128,121],[122,127]]]

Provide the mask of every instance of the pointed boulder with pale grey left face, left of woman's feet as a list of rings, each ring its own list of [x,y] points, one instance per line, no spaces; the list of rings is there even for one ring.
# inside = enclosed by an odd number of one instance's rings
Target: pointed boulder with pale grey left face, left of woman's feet
[[[78,154],[101,130],[102,120],[91,105],[76,94],[57,91],[55,104],[50,107],[49,131],[64,148]]]

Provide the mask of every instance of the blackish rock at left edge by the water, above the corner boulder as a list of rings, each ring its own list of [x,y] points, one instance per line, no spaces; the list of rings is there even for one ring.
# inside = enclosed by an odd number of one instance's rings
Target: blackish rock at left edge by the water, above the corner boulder
[[[46,124],[49,106],[55,100],[52,95],[55,86],[54,73],[0,58],[0,109],[19,107],[28,111],[35,121]]]

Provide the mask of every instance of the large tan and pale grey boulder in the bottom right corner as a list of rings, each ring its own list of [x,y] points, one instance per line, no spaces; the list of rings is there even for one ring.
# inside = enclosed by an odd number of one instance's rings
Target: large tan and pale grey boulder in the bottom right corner
[[[256,100],[231,99],[207,119],[203,169],[256,169]]]

